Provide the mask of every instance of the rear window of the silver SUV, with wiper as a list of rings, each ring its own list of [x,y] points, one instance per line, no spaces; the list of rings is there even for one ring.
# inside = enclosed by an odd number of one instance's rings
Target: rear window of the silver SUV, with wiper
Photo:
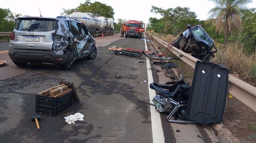
[[[15,27],[18,31],[33,31],[33,32],[47,32],[53,31],[58,28],[58,22],[56,20],[35,20],[35,19],[18,19]]]

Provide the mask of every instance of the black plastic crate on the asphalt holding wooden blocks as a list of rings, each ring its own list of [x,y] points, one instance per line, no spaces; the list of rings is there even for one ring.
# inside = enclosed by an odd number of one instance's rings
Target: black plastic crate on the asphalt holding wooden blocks
[[[72,106],[72,94],[73,90],[60,98],[36,95],[36,112],[48,116],[57,116]]]

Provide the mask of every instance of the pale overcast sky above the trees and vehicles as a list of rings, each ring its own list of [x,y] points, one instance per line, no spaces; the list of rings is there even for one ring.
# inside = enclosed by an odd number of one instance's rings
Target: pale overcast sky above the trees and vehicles
[[[71,9],[84,3],[85,0],[41,0],[41,1],[21,1],[9,0],[1,2],[0,8],[10,8],[14,13],[20,13],[23,16],[40,16],[39,8],[42,16],[57,17],[62,12],[62,8]],[[151,6],[162,7],[163,9],[180,7],[189,7],[194,11],[197,18],[206,20],[208,18],[208,11],[214,7],[212,2],[208,0],[97,0],[101,3],[112,6],[115,15],[114,18],[126,20],[139,20],[147,24],[148,18],[159,15],[150,12]],[[94,2],[94,0],[91,0]],[[249,8],[256,8],[256,0],[248,5]]]

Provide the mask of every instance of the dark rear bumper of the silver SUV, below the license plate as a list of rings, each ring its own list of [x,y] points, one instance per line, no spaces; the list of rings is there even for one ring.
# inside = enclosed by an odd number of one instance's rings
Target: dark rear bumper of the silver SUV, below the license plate
[[[15,62],[22,63],[52,63],[56,65],[64,64],[67,61],[67,54],[56,54],[52,50],[31,50],[14,49],[9,52],[9,57]]]

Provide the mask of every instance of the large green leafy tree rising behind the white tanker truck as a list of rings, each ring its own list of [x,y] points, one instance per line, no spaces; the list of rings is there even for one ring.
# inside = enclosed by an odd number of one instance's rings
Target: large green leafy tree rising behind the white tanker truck
[[[68,16],[71,13],[79,11],[84,13],[93,13],[98,14],[98,16],[104,16],[106,18],[114,18],[114,9],[111,6],[95,1],[91,3],[90,0],[86,0],[84,3],[81,3],[78,7],[73,9],[63,9],[61,15]]]

